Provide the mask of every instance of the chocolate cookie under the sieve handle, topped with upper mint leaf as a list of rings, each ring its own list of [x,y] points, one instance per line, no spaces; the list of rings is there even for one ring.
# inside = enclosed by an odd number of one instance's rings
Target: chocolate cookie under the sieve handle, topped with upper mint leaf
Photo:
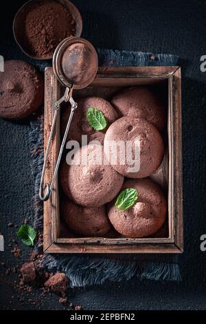
[[[87,110],[88,108],[96,108],[103,112],[104,117],[108,125],[113,123],[118,118],[118,114],[112,105],[99,97],[87,97],[78,99],[78,108],[73,115],[73,120],[71,123],[71,128],[69,129],[68,140],[75,140],[80,143],[82,140],[82,135],[87,135],[87,141],[100,141],[101,144],[104,142],[105,131],[94,130],[87,121]],[[70,108],[66,107],[62,113],[62,134],[65,132],[67,121],[69,119]]]

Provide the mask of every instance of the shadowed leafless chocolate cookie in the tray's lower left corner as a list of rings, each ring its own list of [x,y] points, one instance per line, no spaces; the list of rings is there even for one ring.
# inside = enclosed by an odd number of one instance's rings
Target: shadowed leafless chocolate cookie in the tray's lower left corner
[[[65,198],[62,201],[62,217],[71,231],[83,236],[102,236],[111,229],[104,205],[82,207]]]

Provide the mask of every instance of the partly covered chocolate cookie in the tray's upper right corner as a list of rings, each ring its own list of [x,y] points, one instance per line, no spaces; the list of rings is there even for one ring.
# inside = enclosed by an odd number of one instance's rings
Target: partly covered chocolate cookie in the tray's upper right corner
[[[111,103],[120,116],[146,119],[159,131],[165,127],[165,107],[150,88],[127,88],[116,94]]]

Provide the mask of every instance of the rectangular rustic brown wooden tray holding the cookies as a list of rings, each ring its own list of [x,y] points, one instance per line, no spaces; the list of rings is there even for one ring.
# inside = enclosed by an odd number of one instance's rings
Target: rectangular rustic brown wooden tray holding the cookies
[[[96,95],[110,99],[119,88],[152,85],[168,103],[168,131],[165,134],[165,157],[152,175],[168,195],[168,236],[128,239],[108,237],[63,237],[60,230],[60,195],[58,179],[52,196],[44,203],[44,251],[46,253],[181,253],[183,252],[183,185],[181,147],[181,68],[174,67],[104,67],[98,69],[89,87],[77,90],[74,97]],[[52,68],[45,69],[45,148],[54,114],[54,101],[62,94]],[[60,146],[60,117],[50,152],[45,183],[51,182]]]

